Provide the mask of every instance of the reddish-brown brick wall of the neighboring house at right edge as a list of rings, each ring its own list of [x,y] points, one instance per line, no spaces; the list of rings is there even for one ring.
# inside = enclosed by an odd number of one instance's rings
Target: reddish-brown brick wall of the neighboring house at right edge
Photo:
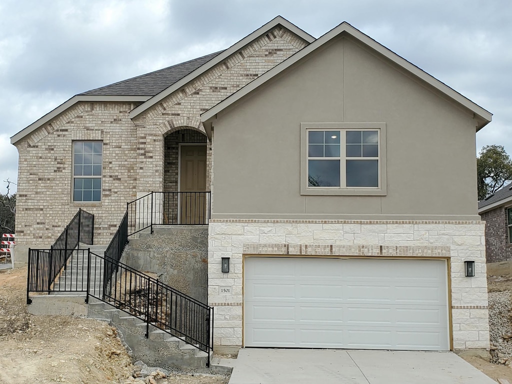
[[[487,263],[512,260],[512,244],[508,243],[507,210],[498,207],[482,215],[485,221],[485,255]]]

